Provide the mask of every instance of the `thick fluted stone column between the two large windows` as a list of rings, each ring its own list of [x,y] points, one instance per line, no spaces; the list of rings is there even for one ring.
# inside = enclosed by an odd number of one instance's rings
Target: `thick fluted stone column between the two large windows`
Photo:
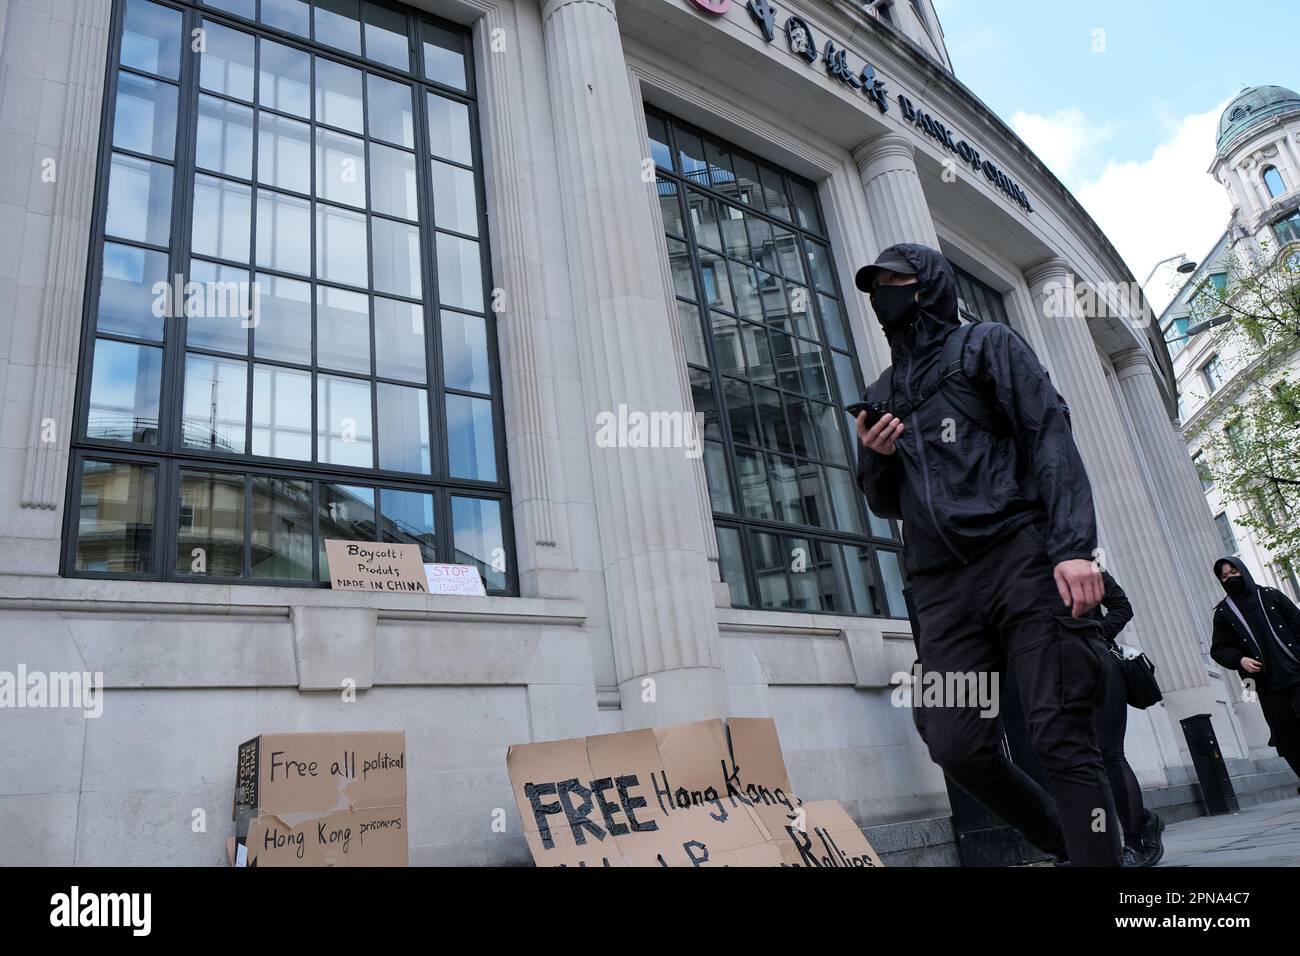
[[[560,207],[593,445],[597,416],[690,410],[641,179],[614,0],[543,0]],[[677,449],[594,447],[592,470],[627,727],[725,713],[705,522]],[[653,679],[653,685],[646,679]]]

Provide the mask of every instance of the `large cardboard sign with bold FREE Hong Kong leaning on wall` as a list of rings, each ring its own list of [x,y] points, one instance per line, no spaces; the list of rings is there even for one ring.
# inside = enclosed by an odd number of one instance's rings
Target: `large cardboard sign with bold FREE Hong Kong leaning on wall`
[[[516,744],[538,866],[880,866],[835,800],[790,792],[776,724],[733,717]]]

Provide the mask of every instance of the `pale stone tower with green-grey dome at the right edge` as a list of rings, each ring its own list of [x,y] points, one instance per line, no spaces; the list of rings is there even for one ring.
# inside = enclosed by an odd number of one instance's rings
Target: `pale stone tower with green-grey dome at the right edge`
[[[1210,174],[1232,199],[1232,239],[1300,242],[1300,94],[1243,90],[1219,117]]]

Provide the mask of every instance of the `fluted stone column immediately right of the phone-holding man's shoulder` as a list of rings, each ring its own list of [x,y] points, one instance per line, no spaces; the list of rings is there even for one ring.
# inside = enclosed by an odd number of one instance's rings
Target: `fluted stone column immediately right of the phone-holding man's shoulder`
[[[1037,321],[1052,355],[1056,385],[1070,403],[1074,436],[1088,467],[1092,494],[1108,538],[1105,563],[1132,597],[1143,633],[1160,667],[1175,719],[1213,713],[1199,632],[1179,597],[1183,583],[1131,454],[1124,421],[1098,362],[1088,321],[1074,308],[1074,278],[1061,259],[1026,272]]]

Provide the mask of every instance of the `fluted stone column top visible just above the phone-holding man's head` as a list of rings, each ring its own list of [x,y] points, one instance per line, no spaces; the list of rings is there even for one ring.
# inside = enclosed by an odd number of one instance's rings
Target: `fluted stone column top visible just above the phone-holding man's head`
[[[858,146],[853,161],[858,164],[867,196],[867,219],[880,248],[896,242],[919,242],[939,248],[935,221],[916,176],[911,140],[898,133],[887,133]]]

